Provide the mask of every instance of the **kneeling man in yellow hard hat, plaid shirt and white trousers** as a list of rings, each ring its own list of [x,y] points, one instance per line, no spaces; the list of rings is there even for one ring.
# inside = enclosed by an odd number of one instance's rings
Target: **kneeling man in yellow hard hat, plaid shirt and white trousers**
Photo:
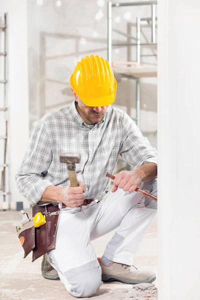
[[[60,278],[76,297],[98,291],[102,281],[152,282],[155,274],[132,266],[132,259],[156,214],[156,202],[137,193],[157,195],[157,155],[133,120],[112,104],[116,80],[99,56],[79,61],[70,78],[74,101],[44,115],[31,134],[16,174],[19,191],[33,206],[59,205],[56,247],[42,260],[42,275]],[[79,152],[78,186],[69,184],[60,152]],[[100,201],[118,155],[131,165],[113,181]],[[91,240],[116,232],[103,256],[96,258]]]

